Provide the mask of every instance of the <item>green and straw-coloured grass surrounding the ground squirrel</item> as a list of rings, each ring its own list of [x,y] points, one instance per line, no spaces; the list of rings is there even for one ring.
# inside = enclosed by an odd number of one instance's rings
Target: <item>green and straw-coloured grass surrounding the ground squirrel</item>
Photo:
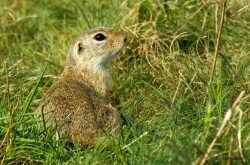
[[[0,164],[198,164],[241,91],[207,163],[226,164],[229,154],[231,164],[250,162],[249,1],[227,3],[210,85],[221,3],[79,2],[92,26],[128,35],[110,67],[122,135],[85,149],[41,126],[34,109],[60,75],[70,42],[87,28],[74,1],[2,0]]]

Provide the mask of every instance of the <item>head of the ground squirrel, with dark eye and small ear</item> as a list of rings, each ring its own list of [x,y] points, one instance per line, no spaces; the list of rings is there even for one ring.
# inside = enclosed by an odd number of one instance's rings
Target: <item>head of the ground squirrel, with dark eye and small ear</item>
[[[70,46],[66,67],[106,72],[107,65],[124,47],[126,35],[107,27],[91,29]]]

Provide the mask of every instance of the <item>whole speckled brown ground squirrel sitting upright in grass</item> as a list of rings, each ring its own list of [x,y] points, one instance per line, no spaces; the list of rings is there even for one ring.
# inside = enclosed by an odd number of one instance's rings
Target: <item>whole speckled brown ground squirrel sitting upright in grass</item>
[[[105,134],[119,132],[120,114],[109,103],[109,62],[124,47],[126,35],[98,27],[78,37],[70,46],[61,76],[43,97],[37,111],[55,121],[73,143],[93,146]]]

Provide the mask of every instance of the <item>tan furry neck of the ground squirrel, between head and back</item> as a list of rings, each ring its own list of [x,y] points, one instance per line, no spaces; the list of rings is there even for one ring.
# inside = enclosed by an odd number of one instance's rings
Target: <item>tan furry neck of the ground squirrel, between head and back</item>
[[[87,85],[103,97],[108,95],[112,86],[111,77],[107,70],[98,70],[88,65],[84,67],[66,65],[60,79],[72,80]]]

